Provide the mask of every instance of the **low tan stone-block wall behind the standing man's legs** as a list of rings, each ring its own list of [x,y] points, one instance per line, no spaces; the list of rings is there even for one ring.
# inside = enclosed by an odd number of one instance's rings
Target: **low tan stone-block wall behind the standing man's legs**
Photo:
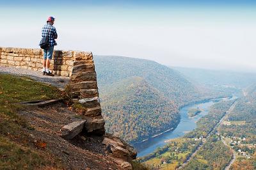
[[[76,53],[77,51],[71,50],[54,50],[50,69],[56,75],[70,77]],[[0,47],[0,65],[15,66],[28,70],[42,70],[43,54],[42,49]]]

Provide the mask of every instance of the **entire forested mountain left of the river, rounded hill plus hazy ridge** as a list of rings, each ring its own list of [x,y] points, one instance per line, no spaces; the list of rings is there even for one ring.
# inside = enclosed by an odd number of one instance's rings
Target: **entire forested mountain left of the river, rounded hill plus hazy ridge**
[[[175,127],[181,105],[212,97],[154,61],[118,56],[94,61],[106,130],[130,143]]]

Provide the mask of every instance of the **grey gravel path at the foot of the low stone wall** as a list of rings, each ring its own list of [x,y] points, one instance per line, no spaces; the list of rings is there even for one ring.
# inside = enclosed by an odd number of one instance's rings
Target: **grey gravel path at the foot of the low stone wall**
[[[65,88],[65,85],[70,80],[69,77],[63,77],[58,75],[51,77],[48,75],[42,75],[42,72],[39,72],[39,71],[15,68],[13,66],[0,66],[0,73],[8,73],[8,74],[19,75],[19,76],[28,76],[31,79],[34,79],[35,81],[51,84],[52,86],[56,86],[57,88],[60,88],[60,89]]]

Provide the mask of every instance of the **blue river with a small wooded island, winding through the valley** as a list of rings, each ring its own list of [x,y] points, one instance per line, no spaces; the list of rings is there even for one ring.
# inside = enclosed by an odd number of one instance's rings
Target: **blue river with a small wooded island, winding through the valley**
[[[134,144],[134,148],[138,151],[137,157],[143,157],[152,153],[159,147],[164,146],[168,139],[174,139],[177,137],[182,137],[187,132],[190,132],[196,128],[196,121],[198,121],[202,116],[205,116],[209,112],[209,108],[216,102],[220,102],[221,100],[232,100],[236,97],[232,98],[218,98],[214,100],[209,100],[207,102],[202,102],[198,104],[191,104],[185,107],[182,107],[179,111],[180,113],[180,123],[175,128],[175,130],[168,130],[167,132],[163,132],[163,134],[155,135],[154,137],[149,138],[147,141],[143,141],[141,143]],[[197,114],[193,118],[189,118],[188,110],[191,108],[200,108],[202,112]]]

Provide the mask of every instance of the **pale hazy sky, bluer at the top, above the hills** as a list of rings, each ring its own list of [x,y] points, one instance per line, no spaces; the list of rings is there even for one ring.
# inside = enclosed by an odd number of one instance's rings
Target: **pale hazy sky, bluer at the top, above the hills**
[[[256,1],[0,3],[0,47],[39,48],[42,26],[53,16],[56,50],[256,72]]]

